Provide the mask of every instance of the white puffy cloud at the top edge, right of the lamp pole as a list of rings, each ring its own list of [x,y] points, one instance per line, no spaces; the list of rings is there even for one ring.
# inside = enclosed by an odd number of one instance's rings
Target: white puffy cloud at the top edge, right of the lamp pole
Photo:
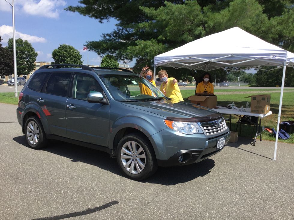
[[[66,2],[63,0],[27,0],[23,2],[23,10],[31,15],[58,18],[60,10],[56,8],[65,4]]]

